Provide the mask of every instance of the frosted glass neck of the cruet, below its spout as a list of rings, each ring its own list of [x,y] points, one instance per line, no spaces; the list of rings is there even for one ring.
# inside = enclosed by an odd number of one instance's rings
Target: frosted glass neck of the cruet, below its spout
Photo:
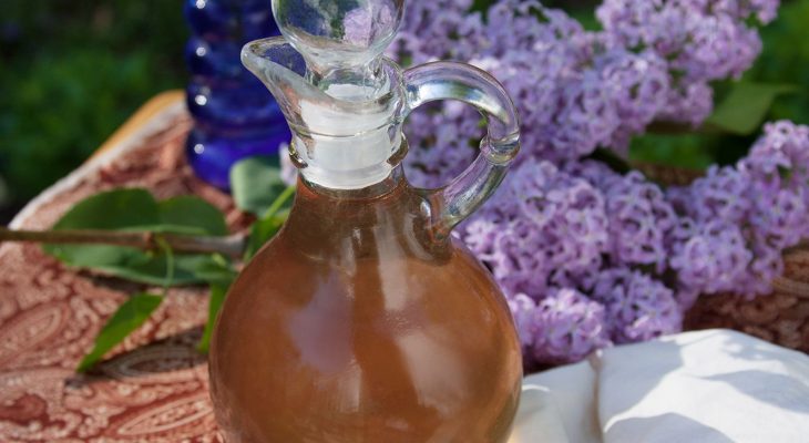
[[[307,94],[297,95],[286,113],[290,154],[308,183],[363,189],[385,181],[404,157],[402,73],[389,60],[375,66],[379,84],[352,74],[335,74],[334,82],[319,84],[324,90],[296,84]]]

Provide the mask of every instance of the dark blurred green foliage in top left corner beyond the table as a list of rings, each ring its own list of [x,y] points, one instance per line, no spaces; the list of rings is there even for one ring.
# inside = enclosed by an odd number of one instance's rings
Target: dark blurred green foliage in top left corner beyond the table
[[[178,0],[3,0],[0,10],[2,223],[150,96],[183,86],[187,28]]]

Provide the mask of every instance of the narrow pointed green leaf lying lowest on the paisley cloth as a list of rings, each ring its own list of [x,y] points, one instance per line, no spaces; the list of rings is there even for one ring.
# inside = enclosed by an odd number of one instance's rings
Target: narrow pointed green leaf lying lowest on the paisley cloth
[[[95,338],[93,350],[79,363],[76,371],[84,372],[95,364],[106,352],[121,343],[126,336],[143,324],[149,316],[163,301],[163,297],[151,293],[137,293],[130,297],[106,321]]]

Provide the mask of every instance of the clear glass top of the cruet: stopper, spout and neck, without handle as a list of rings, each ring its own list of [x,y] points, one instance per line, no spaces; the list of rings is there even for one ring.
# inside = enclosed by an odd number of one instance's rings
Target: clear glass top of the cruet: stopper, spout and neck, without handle
[[[245,45],[243,63],[275,95],[290,155],[309,182],[358,188],[385,179],[404,147],[404,84],[381,54],[403,0],[273,0],[284,39]]]

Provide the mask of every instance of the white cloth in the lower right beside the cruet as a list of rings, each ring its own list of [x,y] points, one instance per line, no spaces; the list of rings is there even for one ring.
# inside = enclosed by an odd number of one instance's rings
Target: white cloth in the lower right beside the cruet
[[[809,357],[708,330],[528,377],[509,443],[809,442]]]

